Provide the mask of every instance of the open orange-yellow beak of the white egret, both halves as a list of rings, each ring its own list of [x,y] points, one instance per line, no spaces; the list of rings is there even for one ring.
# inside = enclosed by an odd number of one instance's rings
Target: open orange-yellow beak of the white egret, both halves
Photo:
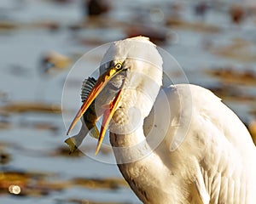
[[[72,131],[73,127],[76,125],[76,123],[79,121],[81,116],[84,115],[85,111],[88,110],[90,105],[95,101],[96,97],[101,94],[103,88],[106,87],[108,82],[113,79],[113,77],[117,76],[121,71],[124,71],[122,64],[117,63],[108,71],[104,72],[96,81],[93,88],[91,88],[90,94],[87,95],[87,98],[84,100],[83,105],[80,107],[80,110],[78,111],[77,115],[74,117],[73,122],[71,123],[70,127],[67,130],[67,135]],[[122,81],[121,87],[119,88],[119,92],[116,94],[116,96],[111,100],[107,105],[103,105],[102,108],[103,111],[103,119],[102,119],[102,127],[101,132],[99,133],[99,139],[98,144],[96,146],[96,154],[100,150],[104,135],[107,131],[107,127],[109,122],[111,121],[111,118],[113,116],[114,111],[118,107],[119,100],[121,97],[121,91],[123,88],[125,80]]]

